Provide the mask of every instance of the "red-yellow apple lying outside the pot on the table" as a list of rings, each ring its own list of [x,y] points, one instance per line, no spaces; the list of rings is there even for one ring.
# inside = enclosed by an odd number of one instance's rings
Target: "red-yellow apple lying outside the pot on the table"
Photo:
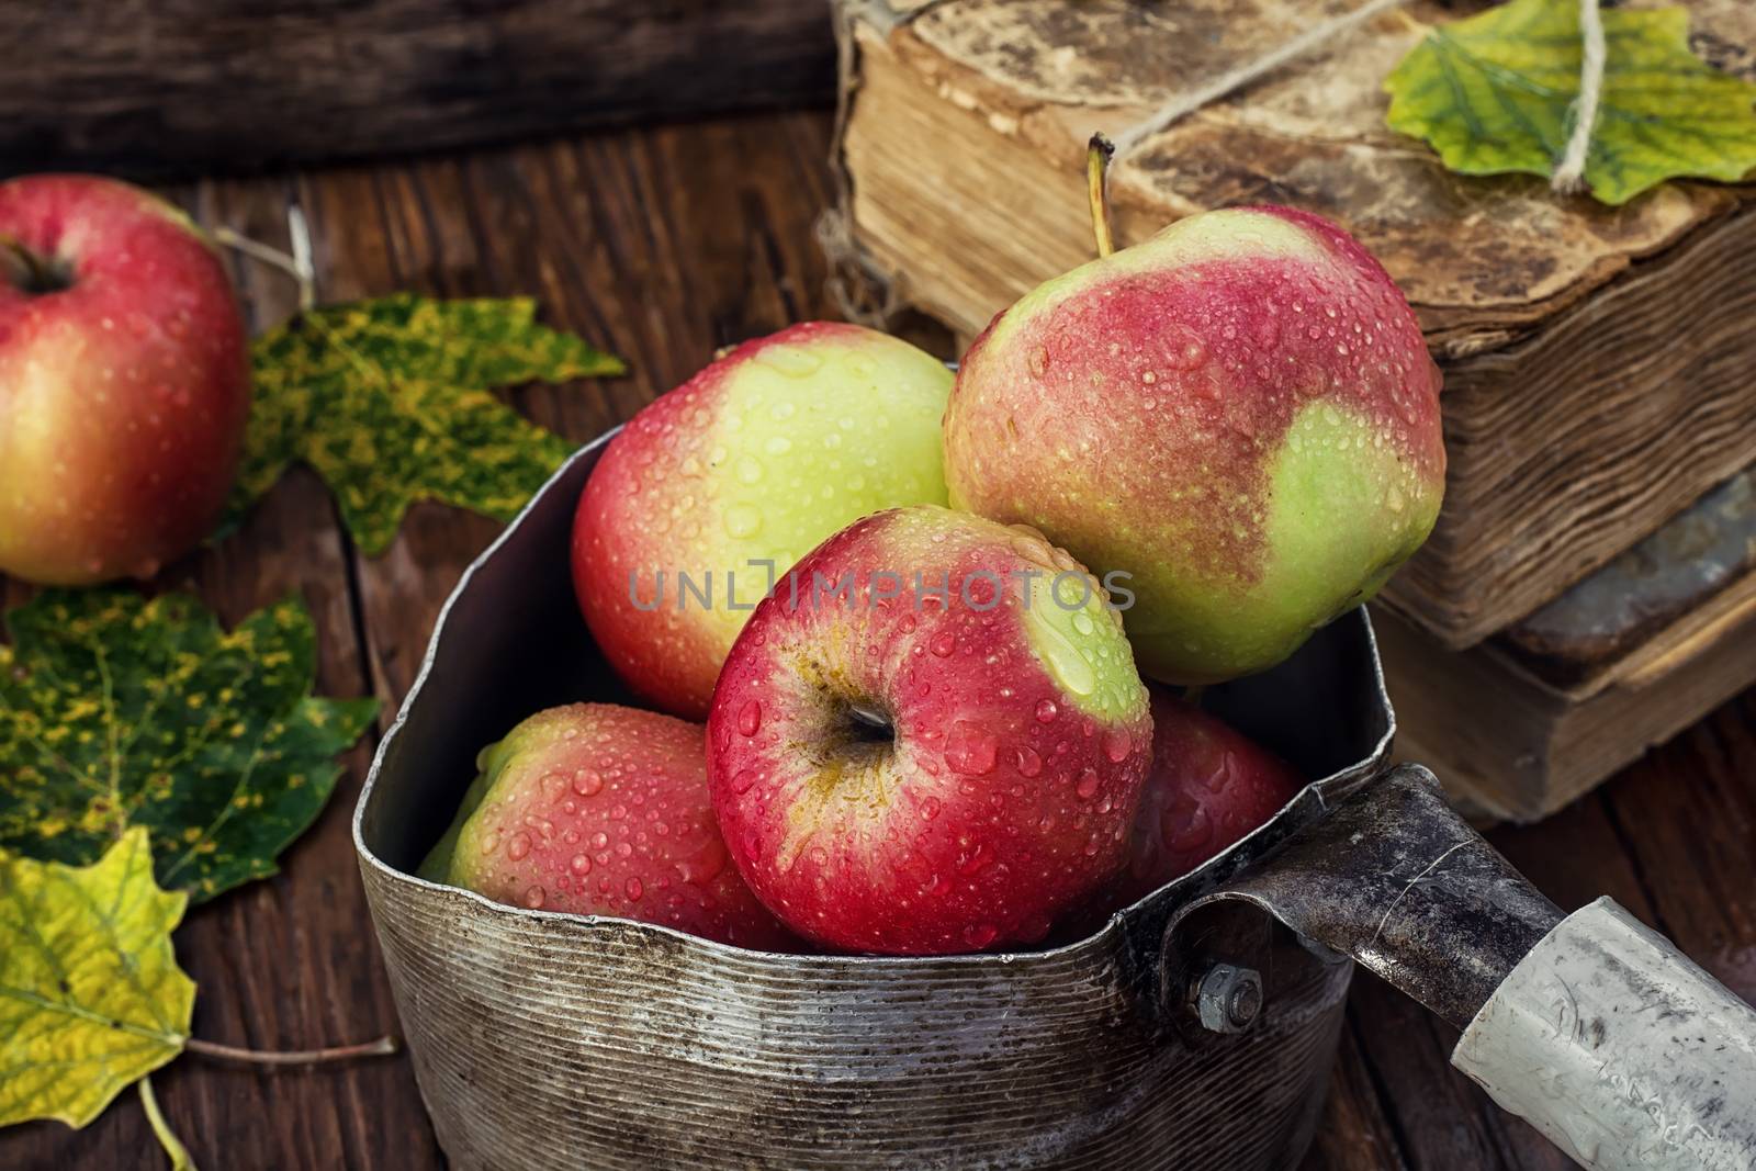
[[[212,528],[249,411],[202,233],[91,176],[0,183],[0,571],[146,578]]]

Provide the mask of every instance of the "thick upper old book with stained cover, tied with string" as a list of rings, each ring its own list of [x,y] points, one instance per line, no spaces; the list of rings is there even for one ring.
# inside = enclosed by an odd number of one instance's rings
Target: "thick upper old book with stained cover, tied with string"
[[[852,309],[962,334],[1092,255],[1083,151],[1361,0],[843,0],[841,211]],[[1454,176],[1384,126],[1410,4],[1150,135],[1112,169],[1120,242],[1284,202],[1349,226],[1445,370],[1445,511],[1385,604],[1440,646],[1529,614],[1756,446],[1756,191],[1668,183],[1624,207]],[[1756,75],[1756,5],[1691,0],[1696,46]],[[860,281],[867,284],[860,288]]]

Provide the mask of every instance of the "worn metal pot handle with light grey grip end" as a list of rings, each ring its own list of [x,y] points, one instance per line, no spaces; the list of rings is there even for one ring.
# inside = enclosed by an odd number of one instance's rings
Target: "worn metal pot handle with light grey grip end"
[[[1563,916],[1421,765],[1178,909],[1164,955],[1236,901],[1463,1027],[1452,1064],[1580,1166],[1756,1167],[1756,1011],[1610,899]]]

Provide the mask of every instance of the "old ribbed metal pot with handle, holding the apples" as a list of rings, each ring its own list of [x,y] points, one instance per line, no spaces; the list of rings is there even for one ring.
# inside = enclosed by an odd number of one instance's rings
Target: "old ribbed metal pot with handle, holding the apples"
[[[1289,1167],[1352,960],[1468,1025],[1452,1060],[1586,1166],[1756,1166],[1756,1013],[1607,901],[1563,923],[1431,774],[1389,769],[1364,611],[1205,700],[1322,779],[1068,946],[771,955],[414,878],[483,744],[620,699],[564,569],[608,439],[464,574],[355,815],[455,1166]]]

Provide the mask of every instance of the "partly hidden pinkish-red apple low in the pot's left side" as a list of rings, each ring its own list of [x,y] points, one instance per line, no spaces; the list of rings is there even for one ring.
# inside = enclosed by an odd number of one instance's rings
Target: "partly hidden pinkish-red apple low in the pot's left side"
[[[795,946],[727,862],[699,723],[615,704],[551,708],[476,765],[425,878],[513,906]]]

